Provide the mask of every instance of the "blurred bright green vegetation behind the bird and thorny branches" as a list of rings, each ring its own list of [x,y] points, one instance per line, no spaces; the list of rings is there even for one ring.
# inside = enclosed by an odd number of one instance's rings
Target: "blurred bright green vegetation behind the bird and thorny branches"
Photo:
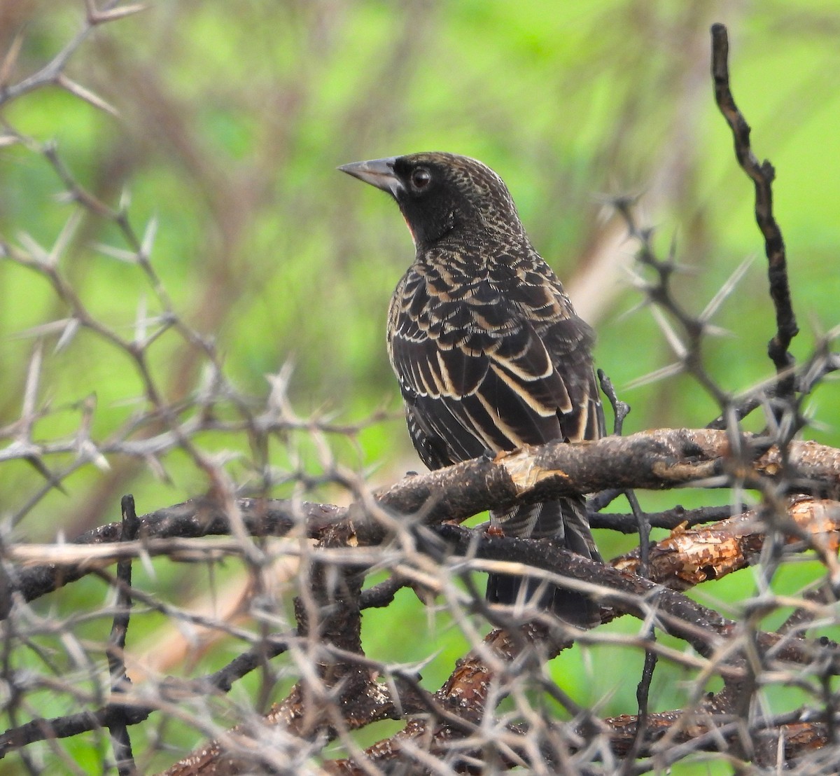
[[[81,0],[0,2],[0,54],[22,36],[8,82],[50,61],[83,16]],[[733,393],[771,374],[765,345],[774,318],[753,189],[734,160],[711,89],[714,21],[729,29],[732,87],[753,126],[753,146],[777,170],[775,209],[802,330],[794,352],[803,358],[838,318],[835,3],[156,0],[143,13],[96,29],[66,67],[116,115],[45,87],[9,102],[0,118],[36,143],[55,141],[83,187],[113,207],[128,203],[138,233],[156,220],[151,262],[173,308],[215,338],[243,393],[264,396],[265,375],[291,364],[288,397],[301,418],[328,414],[353,424],[392,410],[389,420],[365,426],[358,444],[336,440],[344,465],[383,484],[419,467],[384,346],[386,306],[412,245],[384,195],[335,171],[344,162],[450,150],[499,172],[534,245],[598,331],[596,360],[633,406],[625,433],[704,425],[717,407],[687,377],[627,388],[674,356],[648,309],[637,309],[641,296],[629,272],[634,246],[606,205],[611,195],[638,195],[662,254],[673,241],[685,266],[676,292],[694,312],[754,257],[714,320],[729,334],[707,340],[705,355],[711,374]],[[56,198],[62,190],[31,142],[0,147],[3,239],[34,240],[49,250],[76,212]],[[151,315],[160,308],[138,267],[109,255],[128,248],[113,221],[85,211],[60,268],[97,319],[130,337],[138,309],[146,305]],[[38,339],[27,332],[67,314],[42,275],[0,259],[0,425],[21,412]],[[57,352],[58,333],[39,334],[45,340],[39,401],[49,412],[36,436],[71,434],[80,403],[95,395],[92,437],[107,438],[144,395],[136,370],[90,332]],[[196,391],[200,349],[167,332],[148,357],[168,401]],[[807,436],[840,444],[837,404],[831,385],[816,393]],[[753,427],[760,424],[753,420]],[[207,435],[197,442],[248,454],[244,439]],[[294,435],[273,454],[278,466],[318,476],[318,457]],[[0,510],[21,518],[14,538],[49,541],[116,520],[123,493],[134,493],[146,512],[208,487],[204,472],[178,452],[165,460],[165,479],[136,459],[109,464],[73,472],[63,483],[66,494],[39,494],[44,481],[33,467],[3,464]],[[229,468],[246,480],[244,464]],[[307,497],[349,499],[329,486]],[[726,503],[727,494],[643,494],[650,509],[712,499]],[[603,532],[597,539],[605,557],[634,543]],[[159,592],[178,585],[181,596],[202,594],[210,576],[171,564],[155,570],[148,583]],[[235,573],[220,573],[228,571]],[[793,569],[780,585],[795,589],[803,574]],[[67,589],[61,602],[42,602],[44,610],[73,610],[86,597],[101,598],[104,587],[96,585]],[[751,573],[743,572],[696,595],[738,600],[752,590]],[[435,688],[464,652],[465,637],[438,615],[433,635],[417,638],[427,626],[423,607],[401,596],[399,614],[390,607],[365,615],[366,647],[374,657],[400,661],[440,650],[423,670],[425,684]],[[397,616],[399,628],[389,628]],[[160,618],[153,620],[143,627],[150,643],[160,643],[154,631]],[[638,676],[643,656],[605,655],[604,647],[575,647],[555,661],[555,676],[581,703],[600,704],[599,714],[632,713],[635,678],[622,678]],[[680,705],[679,680],[676,669],[660,669],[652,692],[657,709]],[[60,703],[45,713],[60,713]]]

